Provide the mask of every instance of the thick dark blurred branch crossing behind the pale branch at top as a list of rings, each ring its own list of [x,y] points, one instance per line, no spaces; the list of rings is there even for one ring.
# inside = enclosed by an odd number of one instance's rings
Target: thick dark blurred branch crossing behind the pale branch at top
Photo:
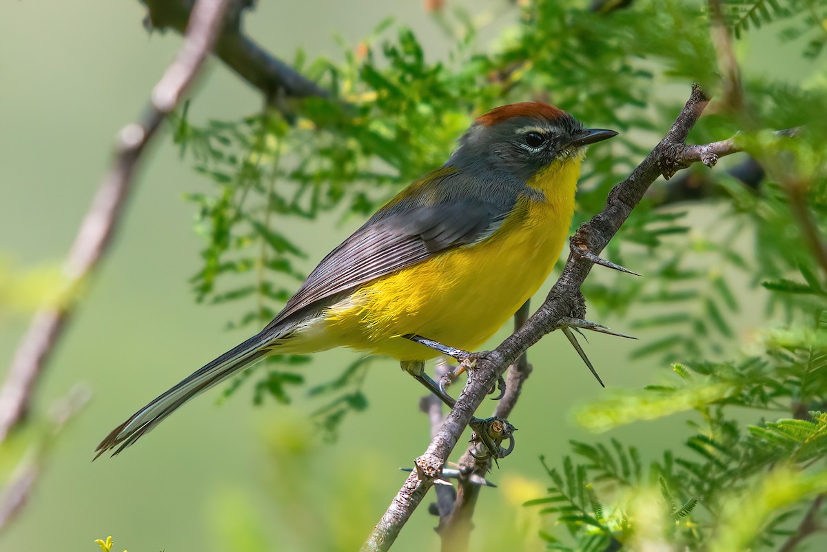
[[[183,33],[193,7],[193,0],[141,0],[148,14],[149,28],[170,28]],[[267,101],[278,103],[284,98],[327,98],[329,93],[252,40],[242,29],[241,15],[251,0],[230,0],[227,17],[218,33],[215,55],[241,79],[265,94]]]

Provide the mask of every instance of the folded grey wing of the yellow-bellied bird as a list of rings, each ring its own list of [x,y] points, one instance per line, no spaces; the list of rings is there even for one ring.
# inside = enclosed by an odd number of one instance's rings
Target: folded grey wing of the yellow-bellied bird
[[[505,187],[485,193],[488,187],[463,186],[466,176],[441,170],[443,174],[415,183],[418,193],[400,193],[332,250],[265,331],[339,293],[497,231],[519,194],[504,193]]]

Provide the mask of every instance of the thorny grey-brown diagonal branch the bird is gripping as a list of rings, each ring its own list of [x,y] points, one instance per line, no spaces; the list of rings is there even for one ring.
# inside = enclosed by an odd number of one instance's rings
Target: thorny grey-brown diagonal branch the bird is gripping
[[[571,253],[566,267],[543,305],[525,325],[504,340],[499,347],[480,355],[476,369],[469,376],[466,387],[457,398],[457,404],[428,445],[428,449],[415,460],[414,471],[394,497],[385,515],[376,524],[362,550],[390,548],[405,522],[422,502],[428,488],[442,473],[448,455],[457,445],[462,431],[485,399],[491,385],[504,373],[509,364],[513,364],[528,350],[528,347],[537,343],[543,335],[557,329],[562,319],[572,316],[582,308],[581,285],[592,266],[591,261],[582,255],[582,252],[599,254],[657,177],[663,175],[669,178],[677,170],[684,169],[696,161],[712,165],[719,157],[739,150],[734,142],[729,143],[729,140],[701,146],[687,146],[684,143],[708,102],[709,98],[700,86],[694,85],[689,101],[667,132],[667,136],[655,146],[646,159],[643,159],[632,174],[629,174],[629,178],[612,189],[603,211],[582,225],[571,238]]]

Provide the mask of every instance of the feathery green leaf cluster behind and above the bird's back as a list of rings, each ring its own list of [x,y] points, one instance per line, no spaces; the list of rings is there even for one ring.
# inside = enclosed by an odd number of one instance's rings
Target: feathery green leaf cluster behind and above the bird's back
[[[246,304],[234,326],[269,320],[312,268],[291,226],[334,211],[364,217],[400,184],[442,164],[472,118],[490,107],[541,99],[594,126],[655,131],[659,112],[674,111],[680,100],[655,102],[648,89],[663,79],[709,81],[708,65],[687,60],[708,58],[712,49],[705,29],[685,22],[702,17],[698,6],[638,5],[638,14],[606,17],[573,0],[529,3],[490,52],[480,51],[470,19],[458,17],[455,47],[436,61],[414,31],[393,34],[385,21],[348,47],[343,63],[297,56],[296,66],[335,100],[312,98],[289,116],[270,110],[241,121],[198,124],[186,108],[176,114],[182,157],[213,183],[187,196],[204,240],[192,279],[198,301]],[[663,74],[653,72],[661,67]],[[622,135],[590,158],[582,212],[600,208],[647,142]],[[664,235],[676,231],[658,217],[641,221],[638,236],[657,224]]]

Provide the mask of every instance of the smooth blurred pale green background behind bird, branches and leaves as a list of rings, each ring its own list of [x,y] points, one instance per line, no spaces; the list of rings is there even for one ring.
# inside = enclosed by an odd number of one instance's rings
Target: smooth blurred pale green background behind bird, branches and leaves
[[[491,21],[481,32],[483,43],[516,17],[506,4],[473,3],[472,13],[488,14]],[[108,166],[113,136],[136,119],[180,45],[171,33],[148,35],[142,17],[138,2],[3,5],[0,262],[46,270],[64,257]],[[355,46],[385,17],[412,27],[428,55],[445,55],[449,41],[421,2],[262,2],[247,17],[247,29],[283,59],[298,47],[309,57],[341,59],[334,36]],[[786,49],[774,40],[750,44],[753,66],[760,63],[779,78],[795,73]],[[261,108],[260,94],[215,61],[191,95],[193,121],[233,119]],[[351,416],[335,443],[323,442],[308,421],[318,403],[284,407],[265,401],[253,407],[248,385],[218,407],[220,393],[208,393],[126,454],[90,463],[95,445],[113,426],[247,336],[224,329],[242,308],[236,303],[194,302],[187,280],[199,266],[199,241],[192,230],[194,207],[180,197],[208,183],[178,159],[168,134],[158,138],[112,253],[50,360],[36,410],[44,412],[78,383],[91,388],[93,400],[60,435],[30,503],[0,535],[0,550],[97,550],[93,540],[106,535],[115,536],[115,549],[131,552],[234,550],[245,543],[269,550],[352,550],[404,480],[397,468],[409,466],[428,442],[428,422],[418,412],[421,388],[390,360],[372,365],[365,388],[370,408]],[[714,216],[699,209],[693,220],[703,231]],[[302,267],[308,271],[313,259],[360,222],[339,224],[330,217],[280,230],[310,251]],[[601,278],[600,270],[594,277]],[[751,314],[747,307],[739,331]],[[24,307],[0,312],[3,364],[28,321]],[[653,339],[654,332],[637,335]],[[626,361],[633,347],[626,340],[595,335],[586,347],[609,389],[639,388],[659,378],[662,367],[654,361]],[[322,381],[355,358],[341,350],[319,354],[304,372],[310,383]],[[539,455],[556,462],[567,439],[586,438],[571,424],[560,430],[557,422],[577,404],[607,393],[562,335],[534,347],[530,360],[534,372],[511,418],[520,430],[518,448],[491,473],[500,488],[482,493],[475,518],[476,526],[485,527],[475,535],[477,541],[481,532],[488,538],[484,550],[515,533],[536,533],[540,516],[519,504],[546,486]],[[676,445],[680,435],[653,431],[665,427],[650,424],[638,435],[633,425],[615,435],[643,450],[647,444]],[[394,550],[433,550],[436,523],[426,508],[418,509]],[[504,529],[493,530],[494,523]],[[526,550],[541,546],[537,539],[529,542]]]

